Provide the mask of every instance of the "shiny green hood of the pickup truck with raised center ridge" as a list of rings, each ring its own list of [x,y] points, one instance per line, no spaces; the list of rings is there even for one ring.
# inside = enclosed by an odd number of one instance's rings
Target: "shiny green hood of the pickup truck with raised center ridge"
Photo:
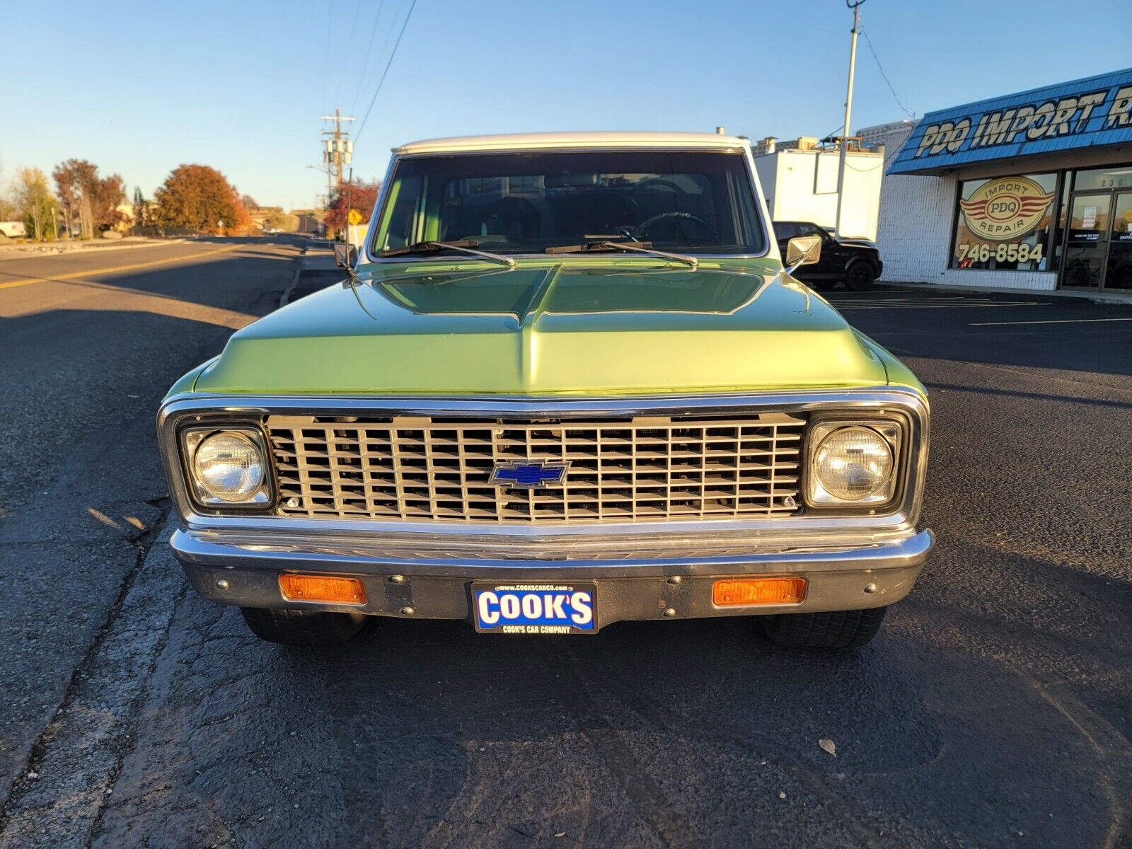
[[[363,266],[237,332],[197,392],[625,395],[852,388],[877,354],[775,260]]]

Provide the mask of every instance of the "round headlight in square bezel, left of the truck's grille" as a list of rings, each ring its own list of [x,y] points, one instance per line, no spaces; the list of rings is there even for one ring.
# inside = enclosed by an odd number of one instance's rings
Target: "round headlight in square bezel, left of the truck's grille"
[[[208,506],[267,504],[267,461],[251,430],[191,430],[185,435],[197,500]]]

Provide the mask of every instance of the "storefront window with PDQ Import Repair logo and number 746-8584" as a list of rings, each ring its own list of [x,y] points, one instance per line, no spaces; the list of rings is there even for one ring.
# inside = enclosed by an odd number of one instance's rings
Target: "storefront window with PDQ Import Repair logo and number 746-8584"
[[[1057,174],[959,185],[952,268],[1046,271]]]

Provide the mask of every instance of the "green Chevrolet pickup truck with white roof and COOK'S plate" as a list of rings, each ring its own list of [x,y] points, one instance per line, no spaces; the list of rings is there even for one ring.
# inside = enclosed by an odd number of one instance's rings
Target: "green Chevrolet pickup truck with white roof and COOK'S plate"
[[[928,403],[790,276],[820,249],[783,266],[743,138],[398,147],[342,282],[162,403],[173,551],[281,643],[754,615],[861,645],[932,548]]]

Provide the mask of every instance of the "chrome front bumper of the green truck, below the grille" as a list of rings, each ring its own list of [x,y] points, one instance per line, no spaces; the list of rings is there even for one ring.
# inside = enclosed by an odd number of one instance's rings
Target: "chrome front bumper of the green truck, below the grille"
[[[423,535],[423,534],[422,534]],[[689,541],[691,542],[691,541]],[[473,581],[498,583],[598,584],[598,627],[621,620],[696,618],[781,612],[856,610],[892,604],[911,589],[928,551],[931,531],[876,535],[849,544],[816,544],[782,538],[744,550],[731,548],[683,554],[672,541],[664,549],[646,541],[616,549],[496,540],[490,549],[453,548],[396,539],[366,540],[353,534],[264,533],[178,530],[173,552],[194,588],[207,599],[257,608],[352,610],[375,616],[471,620]],[[568,544],[568,543],[566,543]],[[749,548],[749,547],[748,547]],[[513,555],[513,556],[507,556]],[[278,576],[289,572],[327,573],[359,578],[368,600],[361,607],[290,602]],[[715,607],[712,583],[727,576],[800,575],[808,580],[800,604]]]

